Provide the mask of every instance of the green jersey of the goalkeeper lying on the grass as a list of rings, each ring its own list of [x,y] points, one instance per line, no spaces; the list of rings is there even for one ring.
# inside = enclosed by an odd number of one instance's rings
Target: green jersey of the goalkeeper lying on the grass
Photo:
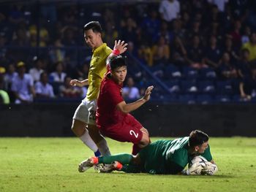
[[[143,171],[152,174],[177,174],[181,172],[195,156],[188,153],[188,141],[189,137],[159,140],[143,148],[139,153],[140,159],[144,163]],[[200,155],[207,161],[212,160],[209,146]]]

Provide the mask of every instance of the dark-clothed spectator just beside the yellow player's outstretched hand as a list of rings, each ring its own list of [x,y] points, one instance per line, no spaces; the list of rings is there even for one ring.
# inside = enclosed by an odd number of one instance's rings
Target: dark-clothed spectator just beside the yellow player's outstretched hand
[[[64,98],[81,98],[83,91],[81,88],[70,85],[71,77],[65,77],[64,85],[59,87],[59,93]]]

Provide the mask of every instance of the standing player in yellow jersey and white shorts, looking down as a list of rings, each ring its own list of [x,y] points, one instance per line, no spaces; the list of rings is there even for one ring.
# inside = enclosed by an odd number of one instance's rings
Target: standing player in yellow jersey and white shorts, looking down
[[[89,76],[86,80],[71,80],[70,85],[83,87],[89,85],[86,98],[75,110],[72,131],[82,142],[94,151],[96,156],[110,155],[107,142],[96,126],[97,97],[102,78],[107,71],[106,59],[112,52],[110,47],[102,42],[102,27],[99,22],[91,21],[84,28],[84,39],[92,49]]]

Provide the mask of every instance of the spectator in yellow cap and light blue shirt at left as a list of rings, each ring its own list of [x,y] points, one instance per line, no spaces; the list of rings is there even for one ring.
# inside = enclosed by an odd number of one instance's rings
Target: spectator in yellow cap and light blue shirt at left
[[[35,96],[34,82],[30,74],[26,74],[25,64],[20,61],[17,64],[18,76],[12,81],[12,91],[15,93],[15,104],[31,103]]]

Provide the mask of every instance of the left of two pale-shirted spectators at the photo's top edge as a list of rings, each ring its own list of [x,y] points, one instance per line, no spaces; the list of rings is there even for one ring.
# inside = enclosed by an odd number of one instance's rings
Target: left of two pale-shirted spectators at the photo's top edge
[[[162,0],[159,5],[159,13],[161,18],[167,22],[178,18],[180,12],[180,4],[177,0]]]

